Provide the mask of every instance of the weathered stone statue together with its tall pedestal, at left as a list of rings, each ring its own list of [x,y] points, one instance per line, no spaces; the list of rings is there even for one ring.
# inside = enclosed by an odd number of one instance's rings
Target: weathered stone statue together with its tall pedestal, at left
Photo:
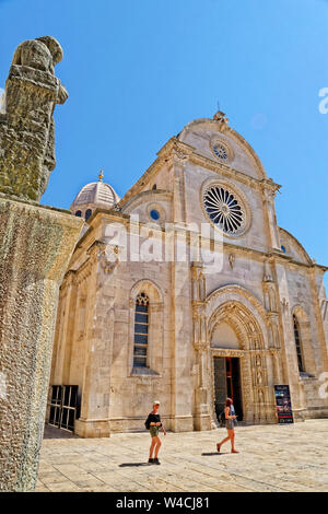
[[[39,206],[67,91],[52,37],[22,43],[0,114],[0,490],[33,491],[44,432],[58,288],[83,221]]]

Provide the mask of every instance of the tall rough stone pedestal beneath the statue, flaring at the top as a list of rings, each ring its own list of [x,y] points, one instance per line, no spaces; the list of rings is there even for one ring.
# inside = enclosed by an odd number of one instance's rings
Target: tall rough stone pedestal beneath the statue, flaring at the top
[[[0,490],[33,491],[58,288],[82,220],[0,197]]]

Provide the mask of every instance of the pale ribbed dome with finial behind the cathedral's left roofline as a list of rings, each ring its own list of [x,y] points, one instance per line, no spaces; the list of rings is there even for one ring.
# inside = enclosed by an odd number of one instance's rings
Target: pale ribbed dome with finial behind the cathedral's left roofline
[[[98,182],[92,182],[82,187],[71,205],[73,214],[90,218],[96,208],[112,209],[119,201],[119,197],[109,184],[103,182],[103,173]]]

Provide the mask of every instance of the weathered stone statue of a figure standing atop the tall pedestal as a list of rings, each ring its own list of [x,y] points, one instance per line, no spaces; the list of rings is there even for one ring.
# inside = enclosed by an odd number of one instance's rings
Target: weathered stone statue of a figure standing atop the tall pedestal
[[[56,104],[68,97],[55,66],[62,59],[50,36],[22,43],[5,82],[0,114],[0,192],[39,201],[56,166]]]

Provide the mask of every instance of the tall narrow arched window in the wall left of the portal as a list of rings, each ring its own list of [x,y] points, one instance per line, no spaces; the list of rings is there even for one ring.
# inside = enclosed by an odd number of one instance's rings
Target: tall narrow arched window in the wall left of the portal
[[[133,367],[147,367],[149,334],[149,297],[140,293],[136,300]]]

